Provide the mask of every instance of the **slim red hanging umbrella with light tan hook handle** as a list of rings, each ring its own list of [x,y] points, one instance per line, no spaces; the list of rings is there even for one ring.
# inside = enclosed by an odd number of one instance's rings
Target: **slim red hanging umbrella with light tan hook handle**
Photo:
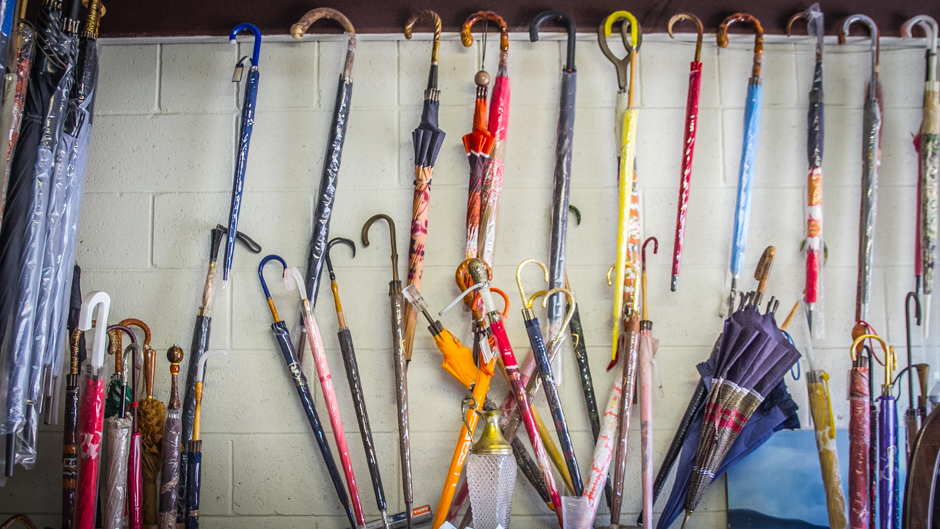
[[[689,71],[689,96],[685,103],[685,128],[682,133],[682,169],[679,173],[679,211],[676,214],[676,241],[672,254],[672,291],[679,288],[679,267],[682,260],[682,241],[685,239],[685,219],[689,211],[689,193],[692,183],[692,156],[695,154],[695,132],[698,129],[698,100],[702,88],[702,21],[691,13],[680,13],[669,19],[666,31],[670,38],[672,26],[680,20],[690,20],[698,30],[695,41],[695,60]]]

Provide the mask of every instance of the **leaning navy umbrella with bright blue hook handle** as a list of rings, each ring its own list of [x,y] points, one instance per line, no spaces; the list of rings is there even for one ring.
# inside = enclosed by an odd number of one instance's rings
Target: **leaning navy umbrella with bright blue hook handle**
[[[320,447],[320,454],[323,456],[323,462],[326,464],[326,469],[330,474],[333,488],[336,489],[336,495],[343,505],[349,523],[352,524],[353,527],[356,527],[356,517],[353,515],[352,507],[349,504],[349,497],[346,496],[346,489],[343,488],[343,478],[336,468],[336,461],[333,460],[333,452],[330,450],[330,443],[326,440],[326,433],[323,431],[320,417],[317,415],[317,410],[313,406],[313,395],[310,393],[310,386],[307,385],[307,377],[304,376],[303,371],[300,369],[300,361],[297,358],[297,353],[294,352],[294,345],[291,343],[290,331],[287,330],[287,324],[278,316],[277,309],[274,306],[274,300],[271,299],[271,292],[268,290],[267,283],[264,282],[264,265],[269,261],[281,263],[281,266],[283,266],[285,270],[287,269],[287,263],[278,255],[269,255],[262,259],[261,264],[258,265],[258,278],[261,280],[261,288],[264,290],[264,297],[267,299],[268,308],[271,309],[271,316],[274,318],[274,323],[271,324],[271,330],[274,332],[274,338],[277,339],[277,344],[281,349],[281,354],[284,356],[284,361],[287,363],[287,371],[294,380],[294,387],[297,388],[300,404],[304,408],[304,413],[307,414],[307,421],[310,423],[313,436],[317,441],[317,445]]]

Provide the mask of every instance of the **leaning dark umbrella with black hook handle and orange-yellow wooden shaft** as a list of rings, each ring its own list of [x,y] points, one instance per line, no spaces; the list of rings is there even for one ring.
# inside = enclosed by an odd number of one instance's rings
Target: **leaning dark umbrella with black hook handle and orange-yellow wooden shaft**
[[[385,502],[385,488],[382,486],[382,475],[379,472],[379,462],[375,454],[375,442],[372,440],[372,427],[369,426],[369,412],[366,410],[366,398],[362,392],[362,380],[359,377],[359,363],[356,361],[356,350],[353,347],[352,333],[346,326],[346,316],[339,301],[339,285],[336,284],[336,273],[333,271],[333,261],[330,251],[336,244],[345,244],[356,256],[356,243],[349,239],[336,237],[326,247],[326,268],[330,274],[330,287],[333,290],[333,301],[336,304],[336,318],[339,320],[339,347],[343,352],[343,365],[346,367],[346,379],[349,382],[349,391],[353,396],[353,405],[356,408],[356,420],[359,423],[359,433],[362,436],[362,446],[366,452],[366,461],[369,464],[369,474],[372,477],[372,488],[375,491],[375,503],[382,511],[382,522],[388,527],[388,511]],[[335,427],[334,427],[335,430]]]

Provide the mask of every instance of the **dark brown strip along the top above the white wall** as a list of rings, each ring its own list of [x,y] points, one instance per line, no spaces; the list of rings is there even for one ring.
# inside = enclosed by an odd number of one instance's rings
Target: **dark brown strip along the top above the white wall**
[[[608,14],[630,9],[644,31],[663,32],[675,13],[687,11],[698,15],[706,31],[714,32],[721,20],[736,11],[756,16],[766,33],[783,33],[787,19],[806,9],[809,0],[368,0],[334,1],[322,5],[309,0],[104,0],[108,9],[101,21],[102,37],[154,37],[225,35],[241,22],[258,26],[265,34],[287,34],[291,24],[315,7],[339,9],[360,33],[401,31],[408,16],[422,9],[438,12],[445,31],[455,31],[463,20],[479,9],[494,9],[511,31],[524,31],[529,21],[545,9],[561,9],[578,24],[580,31],[594,30]],[[30,2],[34,11],[39,0]],[[872,17],[885,36],[897,36],[901,24],[914,15],[927,14],[940,19],[940,0],[822,0],[826,16],[826,34],[835,35],[842,18],[853,13]],[[546,30],[551,30],[546,24]],[[335,26],[318,22],[314,31],[333,31]],[[426,26],[425,26],[426,27]],[[799,31],[803,31],[802,25]],[[862,32],[862,29],[857,31]],[[861,34],[861,33],[859,33]]]

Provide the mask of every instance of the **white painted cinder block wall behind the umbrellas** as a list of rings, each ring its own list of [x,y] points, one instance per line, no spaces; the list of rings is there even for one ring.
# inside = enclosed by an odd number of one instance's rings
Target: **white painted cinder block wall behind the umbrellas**
[[[398,36],[360,38],[349,136],[331,230],[333,236],[358,240],[369,216],[388,213],[398,223],[402,262],[411,215],[411,131],[419,120],[430,56],[430,43],[420,40],[426,36],[416,37],[412,42]],[[493,74],[495,43],[491,39],[486,56]],[[657,464],[695,386],[695,364],[706,357],[721,328],[717,309],[725,293],[752,46],[752,38],[742,35],[719,53],[713,36],[706,40],[701,121],[677,293],[669,292],[669,269],[693,43],[690,36],[670,41],[663,35],[649,35],[640,53],[638,164],[643,233],[660,241],[660,253],[651,255],[649,263],[650,312],[661,340],[657,359],[663,379],[663,392],[655,403]],[[899,346],[899,352],[903,352],[904,295],[913,286],[917,160],[911,134],[920,123],[924,75],[920,46],[919,42],[882,39],[881,48],[885,121],[869,321]],[[343,49],[336,37],[315,36],[303,43],[269,39],[262,46],[257,122],[239,229],[260,242],[265,254],[280,254],[301,268],[312,231],[314,197]],[[246,53],[250,54],[249,44],[236,47],[221,39],[102,42],[101,88],[78,253],[84,269],[82,287],[85,292],[111,294],[112,321],[136,317],[149,323],[154,346],[161,353],[174,343],[184,349],[190,344],[205,275],[208,232],[226,219],[240,104],[239,87],[230,77],[235,62]],[[445,35],[440,57],[441,127],[448,136],[434,171],[424,279],[424,294],[435,310],[458,293],[452,278],[463,259],[467,193],[460,137],[470,130],[473,75],[479,69],[480,53],[476,47],[463,48],[455,35]],[[524,35],[513,35],[509,52],[513,95],[495,282],[513,302],[508,328],[520,358],[527,341],[518,316],[513,270],[525,258],[548,258],[563,60],[560,37],[544,36],[541,42],[530,43]],[[867,40],[856,39],[843,47],[827,41],[826,338],[814,345],[820,367],[832,374],[833,406],[842,428],[848,422],[843,396],[855,302],[861,106],[868,61]],[[777,247],[769,293],[781,300],[781,317],[803,289],[799,246],[805,224],[805,116],[812,66],[813,51],[805,38],[768,38],[746,268],[753,269],[765,246]],[[581,304],[595,386],[603,400],[613,380],[604,371],[612,299],[604,274],[614,261],[616,236],[613,102],[617,85],[614,68],[600,53],[593,34],[579,36],[577,69],[571,203],[581,208],[584,219],[580,226],[574,222],[569,226],[567,257]],[[384,228],[375,233],[372,247],[360,245],[355,259],[345,250],[334,259],[365,379],[386,492],[391,510],[400,511],[386,297],[389,252],[384,233]],[[239,247],[233,280],[220,290],[213,313],[211,346],[230,354],[213,361],[207,376],[203,523],[208,529],[345,527],[346,519],[270,335],[270,315],[256,272],[260,257]],[[401,272],[404,275],[404,265]],[[296,294],[288,293],[274,273],[268,281],[284,319],[295,322]],[[531,274],[528,281],[531,285],[538,278]],[[750,288],[750,283],[745,276],[744,287]],[[330,293],[321,292],[320,299],[316,313],[344,424],[352,432],[356,421],[334,338],[337,326]],[[934,308],[934,329],[940,328],[937,314]],[[464,320],[459,312],[443,318],[460,336],[467,333]],[[801,345],[805,343],[802,329],[795,329],[795,337]],[[937,367],[935,349],[925,355],[921,342],[918,338],[915,361],[926,360]],[[157,395],[166,400],[168,364],[162,354],[158,364]],[[308,377],[311,367],[308,356]],[[562,395],[586,472],[592,451],[590,428],[574,373],[569,349]],[[789,376],[788,380],[801,406],[804,426],[810,427],[804,381],[793,382]],[[464,392],[440,368],[440,355],[423,324],[415,340],[409,382],[416,504],[434,507],[460,427]],[[491,391],[503,395],[505,384],[495,382]],[[319,388],[314,393],[325,420]],[[548,416],[547,411],[544,415]],[[633,430],[631,437],[638,439],[638,421]],[[61,426],[42,429],[37,467],[31,471],[18,468],[0,491],[4,517],[23,511],[39,525],[58,525],[61,439]],[[363,505],[373,519],[378,512],[358,435],[348,439]],[[640,508],[636,450],[629,458],[624,509],[630,514],[626,520],[632,520]],[[726,508],[722,480],[711,487],[691,525],[722,526]],[[606,506],[601,509],[599,522],[604,523]],[[554,523],[554,516],[521,477],[513,514],[517,528]]]

